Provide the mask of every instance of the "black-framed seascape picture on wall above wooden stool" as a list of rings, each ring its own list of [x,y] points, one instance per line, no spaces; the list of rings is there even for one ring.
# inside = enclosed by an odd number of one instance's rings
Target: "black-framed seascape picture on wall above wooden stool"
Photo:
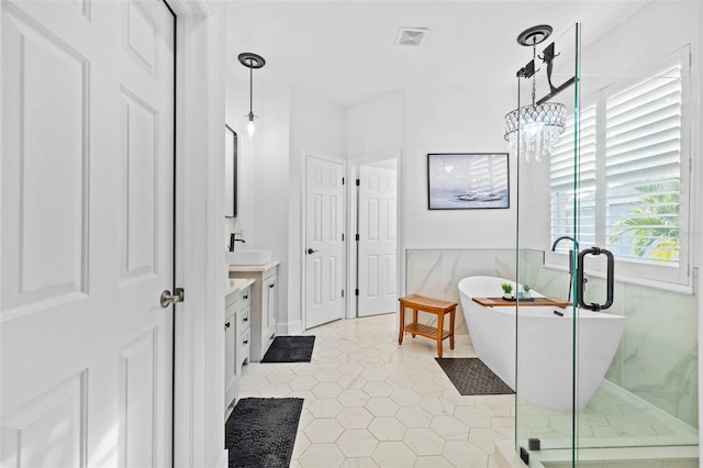
[[[427,208],[510,208],[507,153],[427,154]]]

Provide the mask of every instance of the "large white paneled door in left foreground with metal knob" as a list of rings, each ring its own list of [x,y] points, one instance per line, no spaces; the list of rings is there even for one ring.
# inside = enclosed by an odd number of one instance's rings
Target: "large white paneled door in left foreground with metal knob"
[[[175,18],[0,13],[0,466],[170,466]]]

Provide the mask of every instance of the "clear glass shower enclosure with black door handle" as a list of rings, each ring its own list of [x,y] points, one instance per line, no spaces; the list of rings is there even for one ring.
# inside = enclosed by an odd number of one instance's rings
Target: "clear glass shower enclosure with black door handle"
[[[529,44],[516,64],[516,109],[563,112],[558,142],[523,119],[511,149],[515,450],[529,467],[699,466],[703,7],[626,8],[555,27],[534,67]]]

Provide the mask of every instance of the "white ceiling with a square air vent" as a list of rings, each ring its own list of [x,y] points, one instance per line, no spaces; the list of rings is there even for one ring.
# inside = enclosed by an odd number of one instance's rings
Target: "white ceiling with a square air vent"
[[[515,71],[532,58],[532,51],[516,42],[525,29],[549,24],[551,40],[568,34],[565,41],[572,41],[577,21],[589,19],[588,24],[606,31],[641,4],[230,0],[227,77],[248,80],[237,55],[254,52],[267,62],[254,71],[255,86],[290,83],[344,108],[402,88],[451,86],[496,92],[512,89]],[[394,44],[403,26],[428,30],[420,47]]]

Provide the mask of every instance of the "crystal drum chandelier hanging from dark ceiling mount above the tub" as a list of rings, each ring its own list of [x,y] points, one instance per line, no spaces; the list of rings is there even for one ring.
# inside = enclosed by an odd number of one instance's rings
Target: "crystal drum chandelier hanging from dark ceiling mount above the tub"
[[[551,27],[531,27],[517,36],[517,43],[532,46],[532,63],[518,71],[518,77],[532,77],[532,104],[515,109],[505,115],[505,141],[510,148],[517,148],[526,161],[547,158],[563,133],[567,109],[558,102],[535,104],[535,59],[537,44],[551,34]]]

